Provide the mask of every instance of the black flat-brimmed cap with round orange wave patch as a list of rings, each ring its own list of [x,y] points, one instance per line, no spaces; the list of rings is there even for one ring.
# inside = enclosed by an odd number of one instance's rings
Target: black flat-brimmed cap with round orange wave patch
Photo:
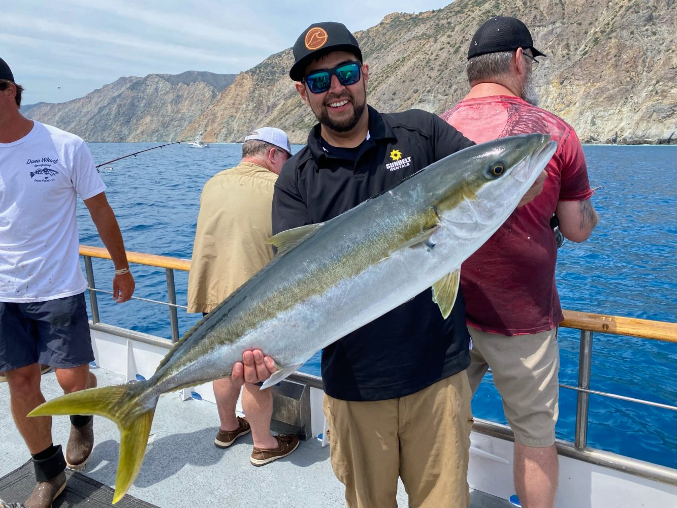
[[[362,51],[359,50],[357,39],[342,23],[325,21],[313,23],[303,30],[294,43],[294,60],[296,63],[289,70],[289,77],[294,81],[301,81],[306,66],[320,56],[330,51],[349,51],[362,62]]]

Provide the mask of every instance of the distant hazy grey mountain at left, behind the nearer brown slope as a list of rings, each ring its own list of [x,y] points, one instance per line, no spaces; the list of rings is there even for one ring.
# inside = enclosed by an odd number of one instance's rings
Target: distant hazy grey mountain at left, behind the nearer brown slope
[[[179,75],[123,77],[62,104],[21,108],[26,117],[80,135],[89,142],[184,140],[182,132],[233,82],[235,75],[189,70]]]

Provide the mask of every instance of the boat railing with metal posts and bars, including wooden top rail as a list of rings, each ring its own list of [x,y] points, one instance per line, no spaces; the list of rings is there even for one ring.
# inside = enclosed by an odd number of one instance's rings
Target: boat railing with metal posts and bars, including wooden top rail
[[[97,306],[97,293],[112,294],[110,291],[104,291],[95,287],[94,272],[91,263],[93,257],[110,259],[106,249],[100,247],[80,246],[80,255],[85,259],[85,271],[87,272],[87,285],[89,291],[89,301],[91,303],[91,314],[94,324],[100,323],[99,310]],[[185,305],[178,305],[176,302],[176,291],[174,284],[174,270],[190,271],[190,261],[188,259],[178,259],[175,257],[158,256],[145,253],[127,251],[127,260],[129,263],[136,263],[146,266],[165,269],[165,278],[167,280],[167,301],[157,301],[142,297],[132,297],[133,299],[158,303],[167,306],[169,310],[169,322],[171,326],[171,341],[177,342],[180,338],[177,308],[187,309]],[[671,404],[661,404],[650,400],[643,400],[613,394],[606,391],[597,391],[590,389],[590,377],[592,369],[592,339],[594,333],[606,333],[612,335],[625,335],[629,337],[639,337],[642,339],[659,340],[671,343],[677,343],[677,323],[662,321],[653,321],[646,319],[624,318],[620,316],[607,316],[604,314],[590,314],[587,312],[564,311],[564,321],[559,326],[563,328],[580,330],[580,352],[578,361],[578,384],[577,386],[560,384],[565,389],[573,389],[578,392],[576,407],[575,439],[573,445],[567,442],[557,442],[557,448],[560,454],[567,457],[573,457],[584,461],[604,465],[640,475],[650,480],[677,485],[677,470],[663,467],[635,459],[622,461],[618,459],[617,454],[603,452],[602,450],[592,450],[587,446],[588,439],[588,411],[590,408],[590,394],[626,400],[637,404],[646,404],[665,410],[677,411],[677,406]],[[294,379],[304,381],[310,386],[322,388],[320,378],[304,373],[295,373]],[[489,436],[495,436],[502,439],[514,440],[509,427],[499,425],[489,421],[475,421],[473,427],[475,431],[485,433]]]

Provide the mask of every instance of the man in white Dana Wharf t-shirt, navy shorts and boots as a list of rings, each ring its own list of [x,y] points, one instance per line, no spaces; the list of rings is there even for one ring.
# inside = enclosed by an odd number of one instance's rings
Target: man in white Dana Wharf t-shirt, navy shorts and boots
[[[65,393],[96,385],[79,265],[77,196],[115,265],[113,298],[131,298],[123,238],[87,145],[77,135],[26,119],[23,87],[0,58],[0,371],[9,384],[16,427],[32,455],[37,485],[24,505],[49,508],[66,486],[66,465],[85,466],[93,448],[92,417],[70,417],[66,457],[51,438],[51,417],[28,418],[45,402],[40,364]]]

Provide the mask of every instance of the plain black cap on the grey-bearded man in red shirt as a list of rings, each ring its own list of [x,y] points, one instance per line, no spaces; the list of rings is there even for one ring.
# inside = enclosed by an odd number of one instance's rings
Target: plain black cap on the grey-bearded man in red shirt
[[[533,47],[533,39],[527,25],[510,16],[494,16],[477,28],[468,48],[468,60],[473,56],[512,51],[518,47],[528,47],[533,56],[546,56]]]

